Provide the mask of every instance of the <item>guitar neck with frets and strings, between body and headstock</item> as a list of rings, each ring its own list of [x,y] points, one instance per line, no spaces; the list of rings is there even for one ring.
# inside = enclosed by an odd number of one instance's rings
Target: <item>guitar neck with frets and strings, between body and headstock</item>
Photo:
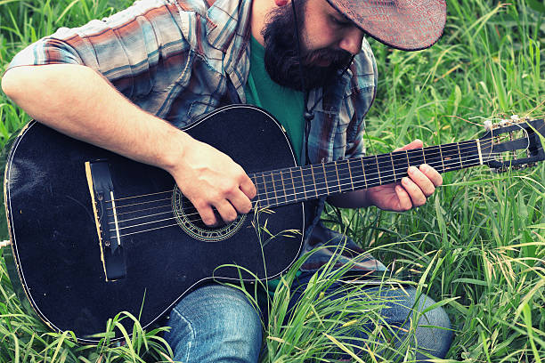
[[[431,165],[439,173],[482,165],[478,140],[355,157],[250,174],[257,189],[254,206],[282,206],[346,191],[401,181],[409,166]]]

